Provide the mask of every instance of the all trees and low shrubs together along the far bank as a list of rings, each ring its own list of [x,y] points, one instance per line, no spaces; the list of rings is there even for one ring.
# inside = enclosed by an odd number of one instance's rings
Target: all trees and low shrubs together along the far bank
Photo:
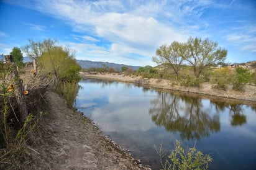
[[[189,38],[186,43],[173,42],[156,50],[152,60],[157,66],[144,66],[134,71],[132,68],[89,68],[91,74],[111,73],[175,80],[178,86],[200,87],[210,82],[214,89],[226,90],[232,84],[235,91],[244,91],[245,84],[256,85],[256,61],[231,65],[224,63],[227,50],[209,39]]]

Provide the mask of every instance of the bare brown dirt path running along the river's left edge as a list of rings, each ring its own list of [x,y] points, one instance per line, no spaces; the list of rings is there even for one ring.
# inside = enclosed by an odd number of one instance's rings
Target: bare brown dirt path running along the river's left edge
[[[37,143],[30,169],[150,169],[103,135],[91,120],[66,107],[54,92],[46,92]]]

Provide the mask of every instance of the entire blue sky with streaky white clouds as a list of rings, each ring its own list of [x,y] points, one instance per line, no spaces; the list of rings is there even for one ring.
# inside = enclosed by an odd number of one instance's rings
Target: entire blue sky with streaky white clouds
[[[160,45],[191,36],[226,48],[226,62],[256,60],[254,0],[0,0],[0,18],[4,54],[52,38],[78,60],[154,66]]]

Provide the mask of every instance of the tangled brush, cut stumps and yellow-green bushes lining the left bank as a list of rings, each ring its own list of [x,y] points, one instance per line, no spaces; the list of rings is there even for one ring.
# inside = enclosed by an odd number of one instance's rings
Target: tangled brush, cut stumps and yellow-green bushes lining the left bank
[[[69,48],[55,40],[29,40],[23,50],[34,60],[32,68],[22,63],[17,47],[0,61],[0,169],[26,169],[29,164],[32,132],[45,114],[45,90],[58,92],[71,108],[79,88],[81,68]]]

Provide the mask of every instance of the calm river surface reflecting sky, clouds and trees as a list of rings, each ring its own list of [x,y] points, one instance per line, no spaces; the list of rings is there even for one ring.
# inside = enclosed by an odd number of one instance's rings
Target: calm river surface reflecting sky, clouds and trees
[[[136,159],[160,169],[155,146],[180,140],[213,158],[209,169],[256,169],[256,107],[83,79],[76,107]]]

